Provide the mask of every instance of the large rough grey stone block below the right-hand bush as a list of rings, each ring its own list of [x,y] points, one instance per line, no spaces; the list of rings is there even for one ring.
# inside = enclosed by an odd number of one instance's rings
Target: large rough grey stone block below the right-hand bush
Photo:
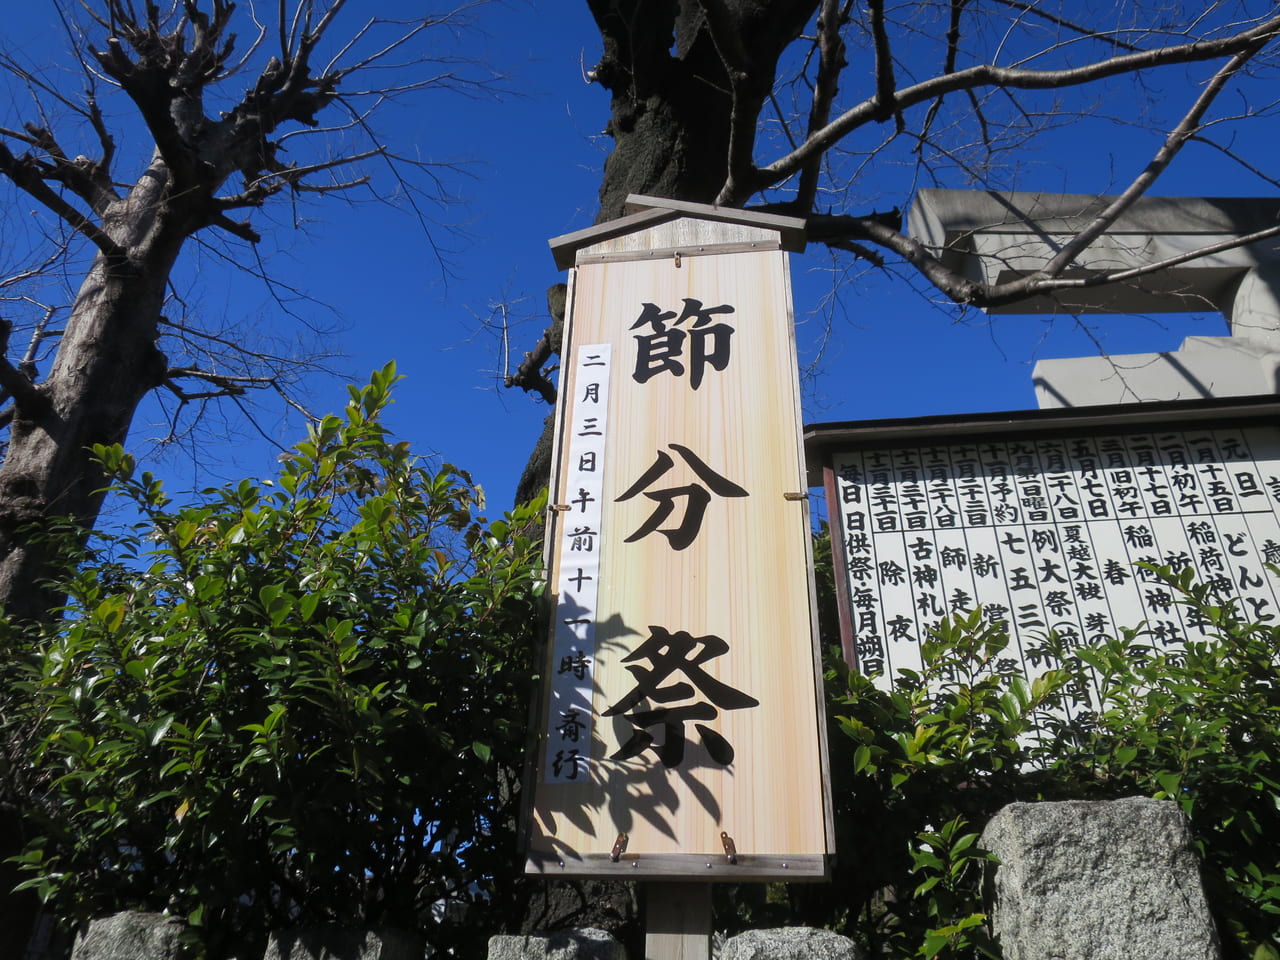
[[[1167,800],[1010,804],[982,835],[1005,960],[1219,960],[1187,819]]]

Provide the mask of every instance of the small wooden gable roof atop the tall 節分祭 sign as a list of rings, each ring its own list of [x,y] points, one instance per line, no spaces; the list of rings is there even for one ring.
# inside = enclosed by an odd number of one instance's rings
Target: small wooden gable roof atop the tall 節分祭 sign
[[[799,253],[805,247],[805,221],[797,216],[632,193],[625,216],[566,233],[549,243],[561,270],[614,259],[724,252],[726,244]]]

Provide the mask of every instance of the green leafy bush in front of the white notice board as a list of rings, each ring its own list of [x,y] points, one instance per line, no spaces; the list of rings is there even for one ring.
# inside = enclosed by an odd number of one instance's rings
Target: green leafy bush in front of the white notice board
[[[832,650],[835,881],[723,891],[721,922],[829,927],[872,956],[998,956],[977,842],[992,814],[1153,796],[1190,819],[1226,956],[1280,960],[1280,626],[1216,605],[1189,571],[1158,573],[1207,625],[1181,650],[1140,628],[1096,648],[1046,637],[1053,668],[1028,682],[1001,672],[1007,637],[974,612],[941,623],[890,691]]]

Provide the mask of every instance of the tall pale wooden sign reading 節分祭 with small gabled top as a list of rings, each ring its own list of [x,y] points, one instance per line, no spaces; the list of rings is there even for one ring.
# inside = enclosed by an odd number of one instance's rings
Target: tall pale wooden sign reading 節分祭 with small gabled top
[[[786,250],[632,197],[571,266],[526,870],[822,879],[832,850]]]

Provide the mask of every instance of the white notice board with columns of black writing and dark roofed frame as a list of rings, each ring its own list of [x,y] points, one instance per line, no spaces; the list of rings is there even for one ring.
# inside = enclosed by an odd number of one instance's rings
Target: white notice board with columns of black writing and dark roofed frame
[[[1007,654],[1146,623],[1203,632],[1143,564],[1190,566],[1247,616],[1280,613],[1275,396],[817,424],[845,659],[888,682],[943,616],[982,605]]]

